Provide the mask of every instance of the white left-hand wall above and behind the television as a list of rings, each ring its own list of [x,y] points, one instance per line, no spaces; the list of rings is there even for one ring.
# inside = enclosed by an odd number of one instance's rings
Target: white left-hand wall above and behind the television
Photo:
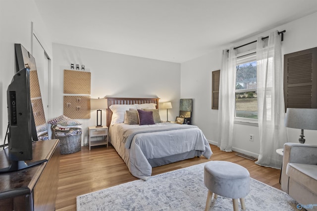
[[[52,41],[34,0],[0,0],[0,144],[8,123],[6,89],[15,73],[14,43],[21,43],[31,52],[31,22],[48,53],[52,54]]]

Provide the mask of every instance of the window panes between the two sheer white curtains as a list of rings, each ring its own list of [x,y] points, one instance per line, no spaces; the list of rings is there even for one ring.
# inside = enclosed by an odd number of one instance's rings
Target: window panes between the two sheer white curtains
[[[258,119],[256,53],[237,58],[236,118]]]

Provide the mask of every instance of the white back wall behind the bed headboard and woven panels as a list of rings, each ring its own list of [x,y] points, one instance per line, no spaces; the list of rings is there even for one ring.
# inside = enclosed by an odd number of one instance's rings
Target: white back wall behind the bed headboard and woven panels
[[[129,56],[106,51],[53,43],[53,117],[63,114],[63,70],[70,64],[84,64],[91,72],[91,98],[159,97],[159,102],[171,101],[168,119],[179,114],[180,64],[154,59]],[[76,65],[75,65],[76,66]],[[160,110],[166,120],[166,110]],[[89,126],[96,125],[97,113],[83,123],[83,144],[87,143]],[[103,111],[106,125],[106,111]]]

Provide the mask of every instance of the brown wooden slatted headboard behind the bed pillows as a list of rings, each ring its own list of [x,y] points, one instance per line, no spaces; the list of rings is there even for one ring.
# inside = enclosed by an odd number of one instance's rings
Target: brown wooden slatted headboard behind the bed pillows
[[[132,104],[143,104],[143,103],[155,103],[159,108],[159,98],[126,98],[126,97],[106,97],[108,103],[107,109],[107,127],[110,126],[112,111],[109,109],[110,105],[132,105]]]

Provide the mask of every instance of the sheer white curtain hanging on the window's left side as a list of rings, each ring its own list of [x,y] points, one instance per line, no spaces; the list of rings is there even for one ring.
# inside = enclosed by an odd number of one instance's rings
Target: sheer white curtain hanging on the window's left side
[[[231,152],[233,139],[233,123],[235,115],[235,84],[236,84],[237,51],[231,47],[222,52],[222,67],[219,84],[218,147]]]

